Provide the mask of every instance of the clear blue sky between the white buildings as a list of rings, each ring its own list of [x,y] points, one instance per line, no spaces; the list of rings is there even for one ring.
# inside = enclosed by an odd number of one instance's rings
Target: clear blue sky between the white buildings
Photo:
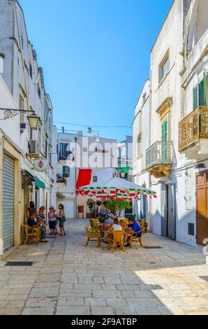
[[[172,0],[20,0],[54,121],[131,125]],[[58,125],[60,128],[62,125]],[[65,125],[68,130],[86,128]],[[128,128],[93,128],[120,141]]]

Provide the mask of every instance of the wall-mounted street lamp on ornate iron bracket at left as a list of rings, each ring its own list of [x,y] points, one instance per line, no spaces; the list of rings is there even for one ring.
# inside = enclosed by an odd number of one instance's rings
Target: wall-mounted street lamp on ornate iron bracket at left
[[[17,109],[0,109],[0,111],[3,111],[3,119],[0,120],[8,120],[10,118],[13,118],[14,116],[18,116],[21,113],[29,113],[29,116],[27,119],[29,120],[29,125],[31,127],[31,130],[37,130],[38,124],[40,123],[40,118],[36,116],[35,112],[32,110],[17,110]]]

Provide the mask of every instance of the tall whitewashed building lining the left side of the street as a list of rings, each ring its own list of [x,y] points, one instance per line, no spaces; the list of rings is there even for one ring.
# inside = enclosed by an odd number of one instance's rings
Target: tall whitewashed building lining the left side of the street
[[[45,92],[43,69],[38,66],[36,52],[29,42],[18,1],[0,0],[0,69],[0,89],[5,95],[0,98],[3,109],[0,129],[3,146],[10,144],[1,148],[1,180],[6,184],[5,190],[0,186],[3,204],[0,254],[3,254],[22,242],[22,224],[27,220],[29,202],[48,209],[56,195],[56,168],[52,167],[51,156],[52,102]],[[35,130],[29,124],[31,115],[36,120]],[[36,166],[37,159],[41,159],[40,167]]]

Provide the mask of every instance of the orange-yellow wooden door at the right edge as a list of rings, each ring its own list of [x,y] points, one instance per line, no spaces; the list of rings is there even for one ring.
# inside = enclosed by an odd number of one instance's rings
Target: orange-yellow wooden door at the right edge
[[[208,170],[196,174],[196,242],[208,238]]]

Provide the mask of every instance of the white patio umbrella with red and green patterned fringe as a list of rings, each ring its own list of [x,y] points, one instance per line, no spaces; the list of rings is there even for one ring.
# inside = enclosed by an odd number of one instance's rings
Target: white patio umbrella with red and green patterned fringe
[[[155,197],[156,192],[153,190],[149,190],[148,188],[144,188],[144,186],[139,186],[130,181],[126,181],[126,179],[114,178],[109,179],[107,181],[103,181],[101,183],[91,183],[87,186],[82,186],[79,190],[77,190],[77,194],[87,196],[95,196],[95,197],[114,197],[116,202],[118,200],[131,200],[135,198],[136,200],[141,199],[141,195],[147,197]],[[117,207],[116,207],[117,208]]]

